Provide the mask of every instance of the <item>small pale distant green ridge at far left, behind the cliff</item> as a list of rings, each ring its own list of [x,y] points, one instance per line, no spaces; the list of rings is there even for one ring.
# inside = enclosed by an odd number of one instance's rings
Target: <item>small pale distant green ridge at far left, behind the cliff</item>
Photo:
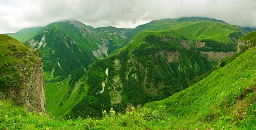
[[[41,31],[42,29],[43,27],[29,27],[29,28],[21,29],[16,33],[9,33],[7,35],[24,43],[27,40],[34,38],[36,34],[38,34],[38,32]]]

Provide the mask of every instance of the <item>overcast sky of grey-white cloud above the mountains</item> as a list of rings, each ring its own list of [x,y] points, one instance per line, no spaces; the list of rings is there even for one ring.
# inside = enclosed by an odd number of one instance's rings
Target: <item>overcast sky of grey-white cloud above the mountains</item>
[[[92,27],[132,28],[191,16],[256,27],[256,0],[0,0],[0,34],[71,19]]]

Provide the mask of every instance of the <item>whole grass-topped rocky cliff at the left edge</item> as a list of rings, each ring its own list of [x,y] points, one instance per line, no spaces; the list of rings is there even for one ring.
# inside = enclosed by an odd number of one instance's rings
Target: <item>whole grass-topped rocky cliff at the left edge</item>
[[[29,112],[46,113],[43,59],[18,40],[0,35],[0,98],[11,99]]]

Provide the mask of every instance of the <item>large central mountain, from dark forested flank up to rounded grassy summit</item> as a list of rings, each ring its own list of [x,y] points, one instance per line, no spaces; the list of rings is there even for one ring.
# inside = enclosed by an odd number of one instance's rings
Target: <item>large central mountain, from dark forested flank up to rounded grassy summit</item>
[[[48,112],[101,117],[110,107],[123,112],[129,102],[139,108],[164,99],[236,53],[237,41],[244,36],[242,28],[225,22],[158,20],[159,26],[154,26],[162,29],[167,22],[175,24],[160,31],[140,31],[116,55],[77,69],[62,82],[47,84]],[[216,59],[211,60],[211,55]]]

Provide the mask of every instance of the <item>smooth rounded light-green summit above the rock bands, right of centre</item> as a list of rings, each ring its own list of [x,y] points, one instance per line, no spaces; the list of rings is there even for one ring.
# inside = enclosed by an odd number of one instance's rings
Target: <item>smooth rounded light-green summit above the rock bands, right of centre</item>
[[[200,25],[200,24],[203,24],[203,25]],[[209,24],[209,25],[204,25],[204,24]],[[214,30],[216,28],[218,28],[219,30]],[[192,40],[202,40],[202,38],[204,39],[205,36],[206,36],[205,38],[210,36],[209,38],[214,38],[213,40],[219,40],[219,37],[223,34],[224,35],[222,36],[221,40],[224,40],[224,39],[227,39],[226,38],[227,35],[232,33],[233,30],[241,31],[242,33],[245,33],[245,34],[248,33],[242,27],[229,25],[222,20],[216,20],[213,18],[201,18],[201,17],[184,17],[184,18],[176,18],[176,19],[153,20],[144,25],[139,25],[138,27],[133,29],[132,32],[128,32],[127,35],[129,37],[133,37],[136,34],[138,34],[140,31],[144,31],[144,30],[159,31],[164,29],[177,30],[179,33],[182,33],[182,34],[186,33],[187,35],[184,35],[184,36]],[[186,32],[182,32],[182,31],[186,31]]]

